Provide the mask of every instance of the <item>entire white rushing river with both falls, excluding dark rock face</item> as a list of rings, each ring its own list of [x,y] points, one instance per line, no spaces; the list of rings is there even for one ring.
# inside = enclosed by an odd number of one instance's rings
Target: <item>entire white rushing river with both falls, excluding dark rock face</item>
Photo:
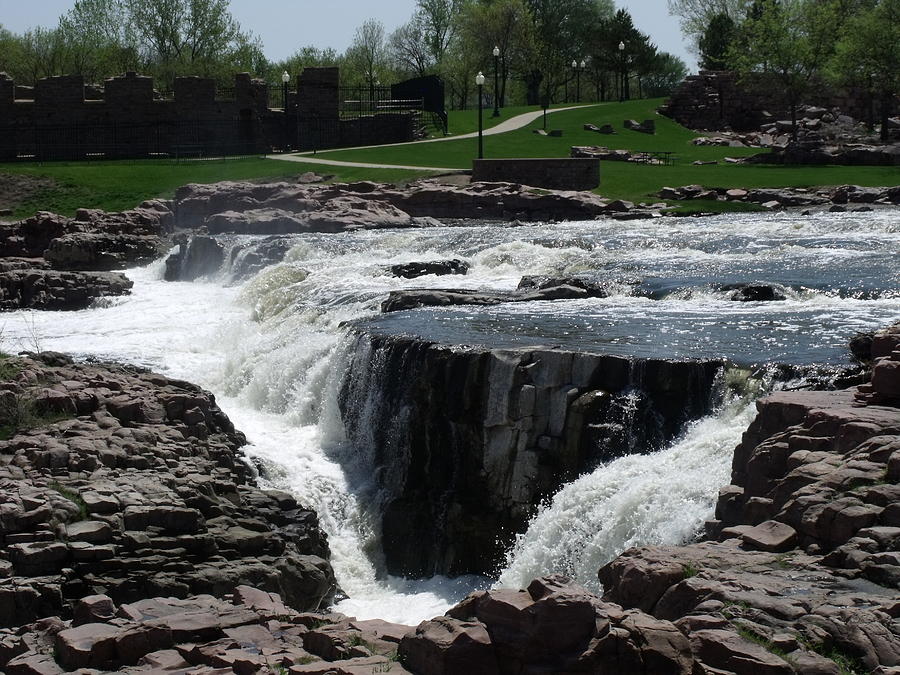
[[[350,596],[337,609],[416,623],[490,582],[408,581],[380,572],[371,454],[349,447],[336,409],[349,364],[341,322],[377,315],[391,290],[509,290],[525,274],[593,274],[610,282],[612,297],[423,310],[392,320],[470,343],[569,340],[601,351],[718,355],[763,345],[834,355],[854,330],[900,318],[898,254],[896,219],[878,214],[308,235],[297,238],[284,264],[242,283],[227,276],[166,283],[162,263],[131,270],[131,296],[80,312],[10,313],[2,342],[7,351],[38,347],[134,363],[212,390],[271,484],[318,512]],[[469,274],[405,280],[386,270],[450,257],[470,263]],[[790,289],[780,303],[728,303],[710,289],[713,280],[773,280]],[[635,281],[680,290],[663,302],[632,297]],[[519,538],[500,583],[520,586],[559,571],[595,584],[600,565],[624,548],[693,534],[728,482],[731,451],[752,414],[746,402],[725,405],[671,447],[615,460],[566,486]]]

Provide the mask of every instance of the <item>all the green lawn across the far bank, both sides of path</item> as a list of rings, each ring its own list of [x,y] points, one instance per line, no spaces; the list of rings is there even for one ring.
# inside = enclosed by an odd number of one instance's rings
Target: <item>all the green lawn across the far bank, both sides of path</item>
[[[605,197],[634,202],[658,201],[654,193],[664,186],[701,184],[707,187],[816,187],[847,183],[882,186],[900,183],[897,167],[778,167],[732,165],[721,163],[726,156],[739,157],[759,152],[752,148],[697,147],[691,140],[697,135],[669,119],[656,114],[661,99],[605,103],[557,112],[548,117],[548,129],[561,129],[561,138],[539,136],[533,131],[542,126],[539,118],[527,128],[484,139],[487,157],[568,157],[573,145],[606,145],[611,148],[647,151],[672,151],[677,155],[674,166],[647,166],[626,162],[602,162],[601,186],[597,192]],[[485,121],[499,123],[535,107],[506,108],[500,118],[491,118],[485,110]],[[657,133],[653,136],[623,128],[625,119],[654,119]],[[613,136],[584,131],[585,123],[598,126],[612,124]],[[454,111],[450,116],[451,131],[459,134],[474,130],[477,111]],[[398,145],[359,150],[320,152],[319,156],[351,162],[412,166],[454,167],[470,169],[477,152],[477,139],[456,139],[439,143]],[[694,166],[696,160],[719,161],[716,165]],[[37,210],[51,210],[71,215],[79,207],[118,211],[132,208],[145,199],[169,197],[186,183],[220,180],[289,179],[291,176],[316,171],[333,175],[338,181],[375,180],[406,182],[428,175],[401,169],[362,169],[324,164],[288,163],[272,159],[234,159],[174,163],[170,160],[122,162],[72,162],[45,164],[0,164],[0,174],[24,173],[47,176],[57,186],[27,197],[15,206],[16,218],[27,217]],[[753,208],[724,202],[685,203],[684,208],[734,210]]]

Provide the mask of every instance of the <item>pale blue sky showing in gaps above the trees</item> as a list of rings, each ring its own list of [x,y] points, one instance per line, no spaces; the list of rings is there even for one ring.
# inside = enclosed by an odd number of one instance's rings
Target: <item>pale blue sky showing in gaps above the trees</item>
[[[16,33],[35,26],[55,26],[75,0],[0,0],[0,25]],[[262,39],[266,56],[278,61],[305,45],[344,51],[356,27],[369,18],[379,19],[391,32],[409,20],[415,0],[231,0],[231,13],[245,30]],[[678,20],[670,17],[666,0],[616,0],[631,12],[634,24],[650,35],[663,51],[680,56],[696,70]]]

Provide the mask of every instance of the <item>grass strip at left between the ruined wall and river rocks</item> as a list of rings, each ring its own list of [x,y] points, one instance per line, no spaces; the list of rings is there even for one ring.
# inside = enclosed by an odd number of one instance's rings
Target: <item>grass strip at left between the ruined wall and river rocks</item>
[[[79,208],[122,211],[146,199],[172,197],[187,183],[215,183],[222,180],[289,180],[307,171],[334,175],[335,180],[377,180],[404,182],[421,173],[400,169],[356,169],[338,166],[310,166],[271,159],[230,159],[175,163],[170,160],[118,162],[46,162],[43,164],[0,164],[0,174],[46,176],[56,187],[41,190],[14,206],[14,218],[27,218],[37,211],[74,215]],[[2,180],[2,178],[0,178]]]

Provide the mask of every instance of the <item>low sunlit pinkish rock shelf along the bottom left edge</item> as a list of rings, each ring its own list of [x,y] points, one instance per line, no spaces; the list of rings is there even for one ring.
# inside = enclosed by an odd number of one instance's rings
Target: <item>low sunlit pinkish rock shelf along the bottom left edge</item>
[[[261,597],[267,602],[259,602]],[[107,599],[108,600],[108,599]],[[277,615],[273,610],[277,608]],[[8,673],[409,673],[396,641],[411,626],[355,622],[340,614],[301,613],[282,599],[240,586],[220,598],[146,598],[99,623],[58,618],[0,630],[0,669]],[[379,631],[380,632],[376,632]],[[15,644],[3,648],[6,640]],[[91,669],[91,670],[84,670]]]

